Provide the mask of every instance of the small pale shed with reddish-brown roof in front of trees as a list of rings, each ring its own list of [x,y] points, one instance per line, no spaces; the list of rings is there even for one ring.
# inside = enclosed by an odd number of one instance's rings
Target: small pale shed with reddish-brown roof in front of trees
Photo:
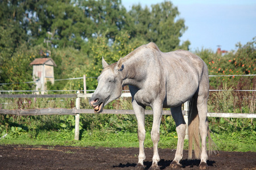
[[[36,58],[30,63],[33,66],[33,80],[36,81],[35,90],[47,90],[46,82],[50,80],[54,84],[53,66],[57,66],[52,58]],[[39,92],[37,92],[39,94]],[[44,92],[42,92],[44,94]]]

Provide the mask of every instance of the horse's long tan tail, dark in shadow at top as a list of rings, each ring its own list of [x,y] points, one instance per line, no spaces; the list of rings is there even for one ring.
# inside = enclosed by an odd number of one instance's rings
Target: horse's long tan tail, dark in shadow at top
[[[188,110],[188,159],[192,159],[193,143],[195,157],[196,159],[200,159],[199,116],[197,111],[197,100],[194,99],[194,97],[189,101]]]

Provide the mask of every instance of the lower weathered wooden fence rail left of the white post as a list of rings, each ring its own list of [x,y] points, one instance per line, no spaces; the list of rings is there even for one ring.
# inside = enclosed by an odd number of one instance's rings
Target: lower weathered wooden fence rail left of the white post
[[[52,114],[71,114],[73,109],[64,109],[64,108],[45,108],[45,109],[27,109],[27,110],[7,110],[0,109],[0,114],[16,114],[18,116],[35,116],[35,115],[52,115]]]

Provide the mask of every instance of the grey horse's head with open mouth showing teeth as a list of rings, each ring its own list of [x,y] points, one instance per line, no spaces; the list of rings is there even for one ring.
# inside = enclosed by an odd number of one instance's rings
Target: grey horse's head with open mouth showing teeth
[[[122,79],[119,76],[123,68],[122,58],[117,63],[108,65],[102,57],[102,65],[104,69],[98,76],[98,86],[89,100],[95,113],[101,113],[106,104],[122,95]]]

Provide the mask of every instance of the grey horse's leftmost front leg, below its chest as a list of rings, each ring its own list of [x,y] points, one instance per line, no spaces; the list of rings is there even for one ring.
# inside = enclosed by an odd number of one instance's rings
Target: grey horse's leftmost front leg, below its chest
[[[138,160],[138,164],[136,165],[136,168],[144,169],[143,161],[146,158],[144,153],[144,140],[146,137],[145,116],[144,116],[145,107],[138,105],[137,102],[133,100],[133,109],[138,122],[138,139],[139,139],[139,156],[138,156],[139,160]]]

